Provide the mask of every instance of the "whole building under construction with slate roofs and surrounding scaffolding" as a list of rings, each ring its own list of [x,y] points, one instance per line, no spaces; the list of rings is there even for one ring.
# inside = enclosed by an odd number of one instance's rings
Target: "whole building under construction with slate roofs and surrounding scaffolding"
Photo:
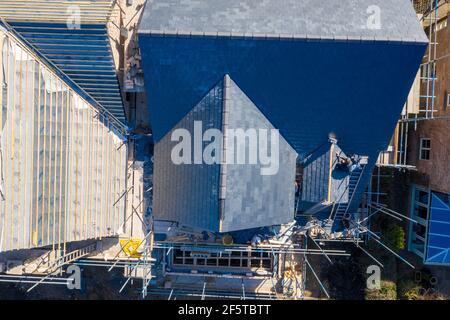
[[[331,298],[311,259],[382,265],[370,240],[410,264],[371,230],[402,216],[373,172],[413,167],[405,123],[436,116],[428,5],[0,0],[0,281],[75,264],[143,298],[306,299],[307,277]]]

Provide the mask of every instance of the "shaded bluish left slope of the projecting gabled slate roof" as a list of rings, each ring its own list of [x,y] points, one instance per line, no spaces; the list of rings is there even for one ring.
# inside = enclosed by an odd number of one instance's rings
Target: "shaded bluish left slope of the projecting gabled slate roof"
[[[177,143],[171,137],[177,129],[193,133],[194,121],[201,121],[203,130],[221,129],[222,90],[220,81],[155,145],[153,214],[156,219],[205,230],[219,229],[220,166],[175,165],[171,154]]]

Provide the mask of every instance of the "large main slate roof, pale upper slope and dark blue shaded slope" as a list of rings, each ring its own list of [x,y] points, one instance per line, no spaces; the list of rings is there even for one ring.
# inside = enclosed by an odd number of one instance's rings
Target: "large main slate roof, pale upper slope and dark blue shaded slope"
[[[380,29],[367,28],[371,6]],[[300,160],[330,133],[368,156],[356,210],[427,44],[409,0],[148,1],[139,45],[153,138],[228,74]]]

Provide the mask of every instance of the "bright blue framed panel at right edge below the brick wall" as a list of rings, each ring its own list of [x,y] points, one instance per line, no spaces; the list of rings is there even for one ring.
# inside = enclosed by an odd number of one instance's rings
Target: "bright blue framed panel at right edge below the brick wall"
[[[450,264],[450,195],[431,193],[425,263]]]

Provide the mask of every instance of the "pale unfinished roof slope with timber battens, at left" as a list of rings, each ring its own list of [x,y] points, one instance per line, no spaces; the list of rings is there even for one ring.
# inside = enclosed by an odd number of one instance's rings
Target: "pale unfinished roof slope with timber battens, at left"
[[[117,234],[127,148],[107,114],[84,100],[14,32],[1,28],[0,251]],[[95,161],[94,161],[95,159]]]

